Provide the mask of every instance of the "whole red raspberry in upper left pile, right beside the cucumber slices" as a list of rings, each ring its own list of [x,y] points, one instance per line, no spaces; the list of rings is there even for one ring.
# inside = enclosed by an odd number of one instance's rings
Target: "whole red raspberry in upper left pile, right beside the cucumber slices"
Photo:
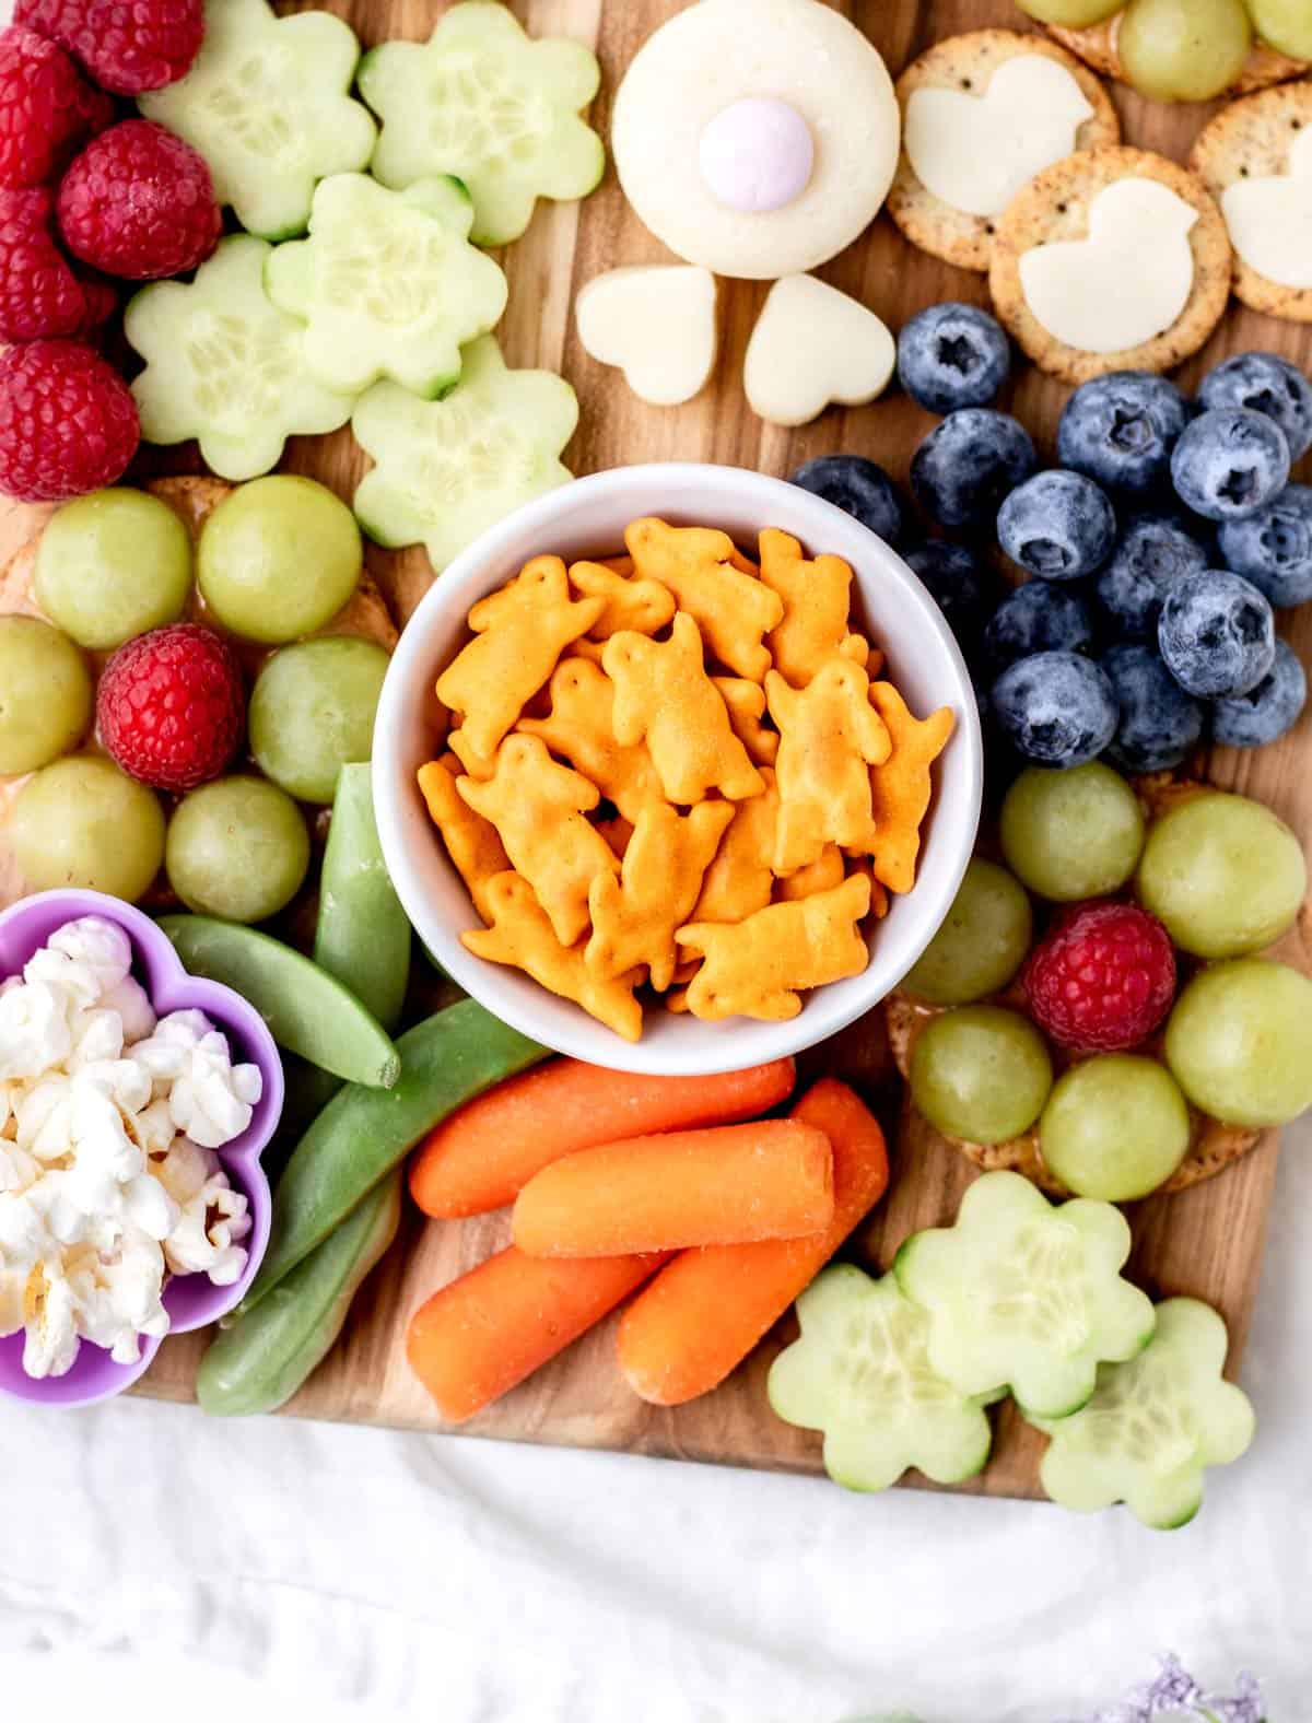
[[[59,188],[64,243],[93,269],[128,281],[179,276],[222,233],[205,157],[148,119],[110,126]]]

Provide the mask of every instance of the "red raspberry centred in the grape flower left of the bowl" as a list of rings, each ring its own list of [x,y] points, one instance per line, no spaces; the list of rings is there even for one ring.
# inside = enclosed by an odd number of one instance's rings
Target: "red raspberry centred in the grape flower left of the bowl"
[[[100,677],[100,739],[124,772],[155,789],[195,789],[217,777],[245,722],[236,653],[197,622],[138,634]]]

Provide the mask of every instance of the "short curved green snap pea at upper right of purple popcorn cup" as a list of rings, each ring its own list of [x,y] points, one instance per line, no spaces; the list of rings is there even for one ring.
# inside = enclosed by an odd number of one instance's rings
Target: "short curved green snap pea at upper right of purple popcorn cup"
[[[355,994],[300,951],[236,922],[164,915],[159,924],[193,975],[243,994],[274,1041],[347,1082],[388,1089],[400,1073],[391,1037]]]

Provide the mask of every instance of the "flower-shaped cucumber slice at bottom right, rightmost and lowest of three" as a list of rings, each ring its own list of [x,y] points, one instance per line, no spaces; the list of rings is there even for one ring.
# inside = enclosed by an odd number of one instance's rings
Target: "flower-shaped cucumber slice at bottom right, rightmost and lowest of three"
[[[1203,1501],[1203,1470],[1238,1459],[1253,1439],[1248,1396],[1221,1377],[1226,1323],[1209,1304],[1172,1297],[1138,1358],[1103,1365],[1093,1399],[1060,1423],[1040,1477],[1062,1508],[1093,1513],[1126,1502],[1143,1525],[1169,1532]]]

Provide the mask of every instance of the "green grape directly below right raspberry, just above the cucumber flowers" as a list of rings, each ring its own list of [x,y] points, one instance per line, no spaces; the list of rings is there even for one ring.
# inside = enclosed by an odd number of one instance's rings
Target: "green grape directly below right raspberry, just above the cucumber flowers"
[[[1190,1110],[1157,1060],[1100,1053],[1072,1065],[1038,1127],[1043,1160],[1076,1196],[1131,1203],[1155,1191],[1190,1149]]]

